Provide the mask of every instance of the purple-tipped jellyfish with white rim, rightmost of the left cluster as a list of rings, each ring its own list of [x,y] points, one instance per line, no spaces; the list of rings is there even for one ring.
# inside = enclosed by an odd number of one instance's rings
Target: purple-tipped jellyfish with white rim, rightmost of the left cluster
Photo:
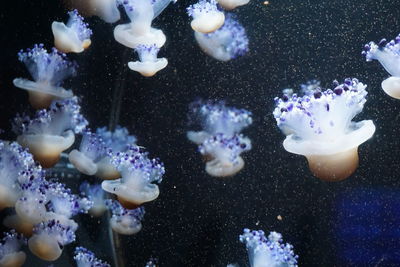
[[[115,194],[128,209],[155,200],[160,191],[156,184],[162,181],[164,165],[158,159],[149,159],[143,148],[131,146],[126,152],[117,152],[112,163],[121,174],[116,180],[103,181],[103,190]]]

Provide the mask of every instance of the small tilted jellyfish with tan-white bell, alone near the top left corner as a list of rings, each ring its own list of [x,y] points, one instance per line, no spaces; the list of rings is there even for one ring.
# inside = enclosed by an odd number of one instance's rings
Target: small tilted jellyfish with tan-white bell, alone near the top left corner
[[[89,29],[89,24],[83,21],[83,17],[78,14],[78,10],[70,11],[68,15],[67,25],[57,21],[51,24],[54,46],[64,53],[81,53],[92,43],[90,40],[92,30]]]

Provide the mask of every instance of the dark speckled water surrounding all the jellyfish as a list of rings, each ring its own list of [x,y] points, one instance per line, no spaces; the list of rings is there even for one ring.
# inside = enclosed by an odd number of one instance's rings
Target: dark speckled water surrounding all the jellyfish
[[[251,0],[235,11],[246,27],[250,52],[221,63],[199,50],[184,12],[192,2],[178,0],[154,21],[167,36],[160,56],[167,57],[169,65],[150,79],[126,67],[136,55],[115,42],[115,25],[87,20],[94,32],[92,46],[73,56],[80,69],[66,85],[83,97],[83,113],[92,128],[108,125],[113,92],[123,88],[119,123],[152,156],[160,157],[167,170],[160,197],[145,205],[143,230],[122,237],[127,266],[144,266],[151,256],[160,266],[245,266],[246,250],[238,241],[244,227],[282,233],[300,256],[300,266],[400,265],[400,100],[380,89],[388,76],[384,69],[377,62],[366,63],[360,54],[368,41],[392,39],[400,32],[400,4],[269,2],[265,6]],[[18,50],[40,42],[50,48],[51,22],[66,19],[66,10],[55,0],[2,3],[2,138],[15,138],[10,119],[29,109],[26,92],[11,82],[28,75],[17,61]],[[372,119],[377,130],[360,146],[356,173],[327,183],[310,174],[305,158],[283,149],[284,136],[271,115],[273,98],[281,89],[297,88],[312,78],[328,86],[333,79],[346,77],[368,84],[368,101],[356,119]],[[186,140],[187,106],[196,97],[225,99],[254,114],[253,125],[245,131],[253,149],[245,155],[245,169],[235,177],[208,176],[196,147]],[[89,217],[82,220],[93,224]],[[81,238],[80,245],[109,259],[105,241],[96,239],[96,228],[83,229],[88,229],[91,240]]]

